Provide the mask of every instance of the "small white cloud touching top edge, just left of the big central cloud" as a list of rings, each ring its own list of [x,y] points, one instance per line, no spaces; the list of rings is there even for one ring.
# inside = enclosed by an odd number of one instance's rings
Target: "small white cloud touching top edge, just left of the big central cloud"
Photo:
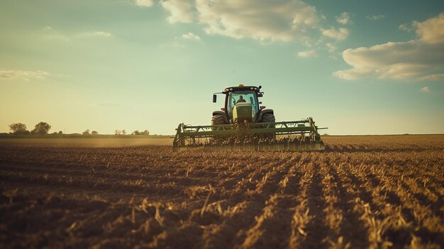
[[[194,6],[191,0],[160,1],[162,7],[170,12],[169,23],[192,23],[194,21]]]

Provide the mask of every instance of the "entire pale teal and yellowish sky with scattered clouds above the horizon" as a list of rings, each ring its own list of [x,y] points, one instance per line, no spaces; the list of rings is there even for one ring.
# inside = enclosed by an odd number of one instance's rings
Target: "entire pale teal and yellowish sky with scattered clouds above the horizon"
[[[443,1],[0,1],[0,133],[174,134],[262,86],[277,121],[444,133]]]

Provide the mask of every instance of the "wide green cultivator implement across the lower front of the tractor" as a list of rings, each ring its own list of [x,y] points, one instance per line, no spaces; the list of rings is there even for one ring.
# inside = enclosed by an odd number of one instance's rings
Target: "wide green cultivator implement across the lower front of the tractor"
[[[223,151],[323,150],[312,118],[273,123],[238,123],[213,126],[179,124],[173,150],[204,148]]]

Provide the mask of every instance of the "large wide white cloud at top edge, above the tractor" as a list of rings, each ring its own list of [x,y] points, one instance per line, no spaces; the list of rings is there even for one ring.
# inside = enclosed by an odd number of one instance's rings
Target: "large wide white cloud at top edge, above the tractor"
[[[196,0],[196,9],[206,33],[238,39],[294,40],[319,19],[313,6],[299,0]]]

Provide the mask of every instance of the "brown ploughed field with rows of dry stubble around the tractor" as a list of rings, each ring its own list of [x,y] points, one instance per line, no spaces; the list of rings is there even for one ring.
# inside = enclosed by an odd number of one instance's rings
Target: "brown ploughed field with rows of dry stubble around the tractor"
[[[0,245],[444,248],[444,135],[323,139],[313,153],[0,140]]]

